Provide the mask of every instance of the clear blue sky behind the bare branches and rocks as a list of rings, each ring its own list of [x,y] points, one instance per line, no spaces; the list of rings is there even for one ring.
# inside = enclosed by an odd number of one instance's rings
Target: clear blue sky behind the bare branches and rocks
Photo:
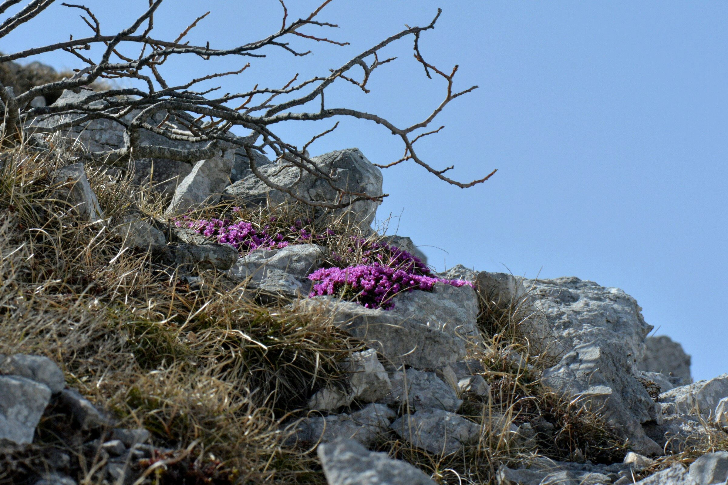
[[[302,17],[314,1],[291,0]],[[145,0],[90,0],[103,30],[116,33]],[[334,0],[322,20],[346,47],[274,50],[223,92],[256,83],[285,84],[328,73],[404,28],[429,23],[443,7],[422,52],[441,68],[459,64],[456,87],[480,89],[455,100],[433,124],[439,135],[419,143],[434,167],[472,180],[497,168],[487,183],[462,190],[420,167],[385,171],[391,195],[380,217],[422,246],[438,270],[471,268],[543,278],[578,276],[632,294],[646,321],[692,354],[697,379],[728,372],[726,209],[728,196],[728,4],[717,1],[451,1]],[[280,26],[276,0],[168,0],[157,37],[173,38],[197,15],[212,13],[189,39],[229,47]],[[78,13],[55,4],[27,28],[0,39],[11,52],[80,36]],[[313,32],[313,31],[312,31]],[[84,34],[86,35],[86,34]],[[412,60],[411,41],[389,48],[399,57],[375,71],[372,92],[332,90],[327,103],[348,105],[411,124],[427,116],[444,84]],[[75,57],[44,55],[58,68]],[[167,65],[170,81],[240,68],[244,59]],[[212,84],[209,84],[211,86]],[[333,121],[290,124],[278,133],[302,145]],[[315,143],[312,154],[356,146],[373,162],[400,157],[386,129],[347,121]]]

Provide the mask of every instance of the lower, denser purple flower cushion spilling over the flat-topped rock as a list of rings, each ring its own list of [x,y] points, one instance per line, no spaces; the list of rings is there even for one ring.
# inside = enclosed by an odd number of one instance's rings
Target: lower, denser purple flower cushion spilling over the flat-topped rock
[[[321,268],[309,275],[314,286],[309,297],[324,294],[353,297],[365,308],[394,308],[392,298],[400,292],[414,289],[432,291],[435,283],[453,286],[472,284],[469,281],[447,280],[389,268],[378,262],[370,265],[349,266],[349,268]]]

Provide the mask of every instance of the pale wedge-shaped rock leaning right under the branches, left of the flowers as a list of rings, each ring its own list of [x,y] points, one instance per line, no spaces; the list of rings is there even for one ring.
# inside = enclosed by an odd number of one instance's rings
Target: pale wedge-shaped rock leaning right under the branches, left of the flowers
[[[230,183],[235,153],[228,150],[212,159],[200,160],[177,186],[167,215],[179,215],[205,205],[217,204]]]

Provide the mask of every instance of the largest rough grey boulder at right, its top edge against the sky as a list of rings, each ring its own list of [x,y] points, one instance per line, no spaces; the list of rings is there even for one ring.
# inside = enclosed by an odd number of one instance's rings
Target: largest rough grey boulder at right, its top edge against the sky
[[[579,278],[527,280],[534,288],[537,325],[550,329],[561,361],[542,383],[566,398],[599,409],[634,451],[660,454],[662,448],[641,424],[660,422],[661,409],[638,380],[636,361],[652,330],[636,300],[617,288]]]

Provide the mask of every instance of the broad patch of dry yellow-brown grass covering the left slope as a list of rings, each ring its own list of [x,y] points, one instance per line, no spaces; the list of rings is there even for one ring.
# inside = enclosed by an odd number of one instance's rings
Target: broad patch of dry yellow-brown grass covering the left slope
[[[310,457],[282,447],[280,422],[337,380],[337,362],[360,344],[326,316],[261,305],[213,273],[191,288],[149,254],[124,249],[108,226],[77,220],[52,183],[62,154],[22,147],[0,159],[0,353],[52,358],[68,385],[121,425],[150,430],[173,450],[149,462],[154,483],[310,475]],[[108,220],[130,212],[153,220],[162,207],[124,177],[98,171],[90,183]],[[64,446],[69,473],[98,483],[100,468],[73,449],[88,436],[71,438],[58,419],[49,408],[39,443],[0,483],[20,483]]]

